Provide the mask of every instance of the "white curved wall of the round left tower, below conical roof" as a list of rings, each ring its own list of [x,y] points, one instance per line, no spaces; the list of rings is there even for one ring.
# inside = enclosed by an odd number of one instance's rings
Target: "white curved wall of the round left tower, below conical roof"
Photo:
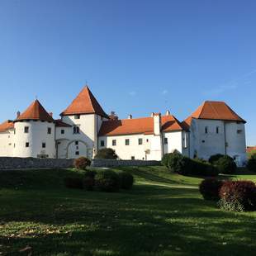
[[[29,132],[25,133],[25,126]],[[13,156],[15,157],[38,157],[39,154],[47,154],[49,158],[55,158],[55,124],[47,121],[17,121],[14,123],[16,134],[13,136]],[[51,134],[48,134],[48,127]],[[26,142],[29,147],[26,148]],[[45,149],[42,148],[45,143]]]

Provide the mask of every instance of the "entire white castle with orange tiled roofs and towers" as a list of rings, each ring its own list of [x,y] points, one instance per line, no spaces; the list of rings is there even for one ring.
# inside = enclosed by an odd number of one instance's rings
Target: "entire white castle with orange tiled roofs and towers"
[[[177,149],[190,158],[228,154],[246,161],[244,121],[225,102],[204,102],[185,121],[165,115],[119,120],[107,115],[88,86],[55,120],[36,100],[0,125],[0,156],[90,159],[102,148],[120,159],[160,160]]]

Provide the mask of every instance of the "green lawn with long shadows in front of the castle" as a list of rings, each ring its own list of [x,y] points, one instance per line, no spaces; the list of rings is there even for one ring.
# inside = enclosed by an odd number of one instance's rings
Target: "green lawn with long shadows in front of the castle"
[[[136,183],[119,193],[64,188],[74,170],[0,172],[0,255],[255,255],[256,213],[204,201],[201,178],[125,169]]]

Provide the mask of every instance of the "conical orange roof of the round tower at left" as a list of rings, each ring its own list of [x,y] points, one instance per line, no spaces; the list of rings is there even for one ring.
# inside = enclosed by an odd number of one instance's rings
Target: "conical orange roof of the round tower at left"
[[[45,108],[40,104],[38,100],[31,103],[31,106],[26,109],[15,121],[22,120],[40,120],[53,122],[54,119],[50,114],[45,111]]]

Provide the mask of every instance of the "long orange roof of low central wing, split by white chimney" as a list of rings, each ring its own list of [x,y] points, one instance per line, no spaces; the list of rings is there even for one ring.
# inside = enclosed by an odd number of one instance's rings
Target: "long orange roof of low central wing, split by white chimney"
[[[182,124],[174,116],[161,116],[162,131],[183,130]],[[135,119],[103,121],[99,136],[104,135],[154,135],[154,118],[143,117]]]

